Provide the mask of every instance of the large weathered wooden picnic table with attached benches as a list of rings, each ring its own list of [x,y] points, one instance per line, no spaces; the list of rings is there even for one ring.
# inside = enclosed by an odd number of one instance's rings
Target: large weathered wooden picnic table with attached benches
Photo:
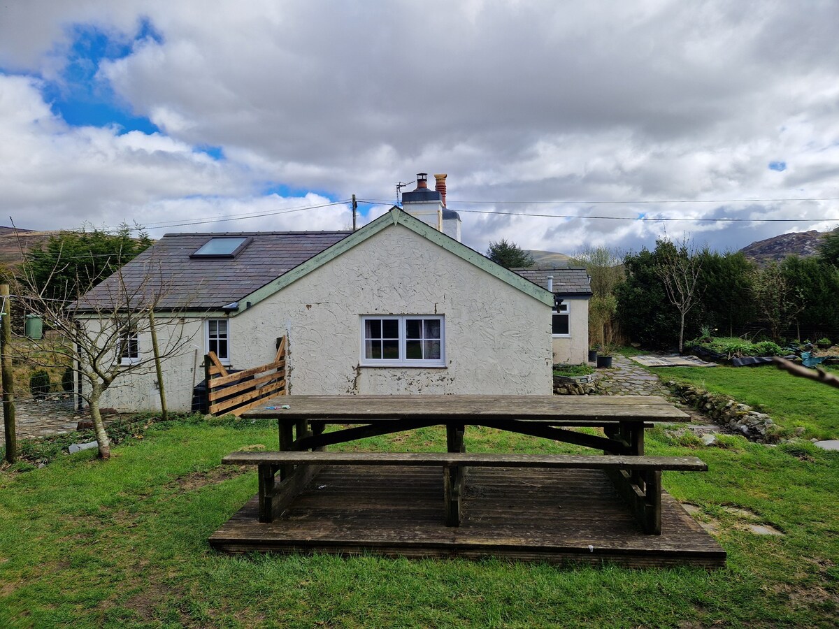
[[[283,407],[288,408],[283,408]],[[661,470],[705,470],[694,457],[645,457],[644,427],[688,422],[690,417],[654,396],[281,396],[245,418],[279,424],[279,453],[234,453],[226,463],[259,465],[260,520],[271,522],[315,475],[318,465],[441,465],[446,481],[446,524],[461,519],[461,489],[469,466],[598,467],[612,477],[644,530],[660,533]],[[325,432],[326,424],[341,429]],[[456,453],[325,453],[326,446],[426,426],[446,426],[446,450]],[[487,426],[578,444],[604,455],[469,454],[466,426]],[[603,435],[575,427],[599,427]],[[308,452],[308,454],[307,454]],[[279,471],[278,484],[274,477]]]

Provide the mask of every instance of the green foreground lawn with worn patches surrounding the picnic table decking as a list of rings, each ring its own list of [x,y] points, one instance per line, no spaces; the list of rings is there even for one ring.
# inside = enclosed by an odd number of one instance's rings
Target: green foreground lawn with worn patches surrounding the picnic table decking
[[[711,370],[709,370],[711,371]],[[503,441],[499,441],[503,439]],[[472,450],[560,450],[467,431]],[[839,456],[744,439],[685,448],[663,429],[650,454],[699,455],[706,474],[664,473],[701,507],[727,567],[631,570],[487,559],[230,557],[206,538],[256,491],[219,465],[277,447],[271,424],[155,424],[112,460],[91,451],[0,473],[0,626],[834,626],[839,621]],[[359,447],[444,449],[438,429]],[[784,537],[748,532],[743,507]]]

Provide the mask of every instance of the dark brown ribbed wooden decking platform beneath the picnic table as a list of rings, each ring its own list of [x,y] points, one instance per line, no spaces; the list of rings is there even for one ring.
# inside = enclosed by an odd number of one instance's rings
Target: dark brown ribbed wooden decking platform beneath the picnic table
[[[254,496],[209,541],[227,553],[494,556],[709,569],[726,560],[725,550],[666,493],[661,535],[642,533],[600,470],[472,468],[461,526],[446,527],[443,517],[439,469],[326,467],[274,522],[258,522]]]

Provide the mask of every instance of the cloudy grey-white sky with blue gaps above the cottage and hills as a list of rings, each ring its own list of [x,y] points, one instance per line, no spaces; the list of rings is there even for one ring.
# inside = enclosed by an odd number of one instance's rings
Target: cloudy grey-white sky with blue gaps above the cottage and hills
[[[0,224],[341,229],[427,172],[482,251],[826,231],[837,24],[833,0],[3,3]]]

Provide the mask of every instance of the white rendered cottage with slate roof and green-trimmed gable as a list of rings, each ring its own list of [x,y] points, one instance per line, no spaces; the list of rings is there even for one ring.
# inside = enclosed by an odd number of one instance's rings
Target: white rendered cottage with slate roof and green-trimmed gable
[[[158,334],[191,337],[164,362],[172,410],[190,409],[208,351],[247,369],[273,361],[281,336],[290,395],[551,392],[554,296],[398,207],[354,232],[168,234],[123,281],[149,268],[167,289]],[[112,294],[109,281],[80,304]],[[152,351],[143,334],[125,347],[115,360]],[[159,408],[156,374],[125,374],[102,406]]]

